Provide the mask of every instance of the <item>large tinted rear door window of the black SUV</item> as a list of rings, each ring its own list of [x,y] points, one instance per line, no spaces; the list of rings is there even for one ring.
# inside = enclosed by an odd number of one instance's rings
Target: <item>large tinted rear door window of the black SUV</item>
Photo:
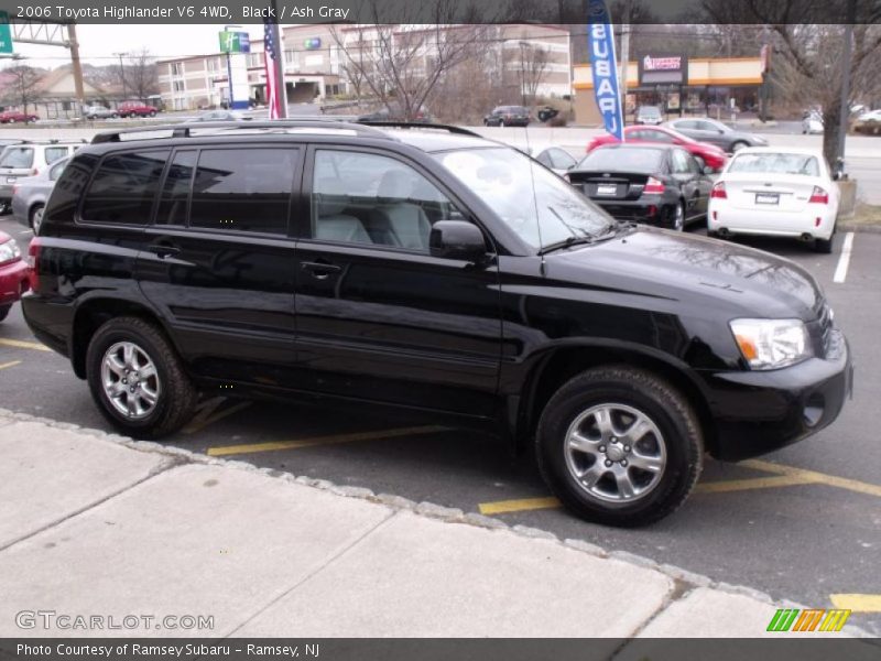
[[[295,149],[206,149],[193,181],[189,226],[287,234]]]

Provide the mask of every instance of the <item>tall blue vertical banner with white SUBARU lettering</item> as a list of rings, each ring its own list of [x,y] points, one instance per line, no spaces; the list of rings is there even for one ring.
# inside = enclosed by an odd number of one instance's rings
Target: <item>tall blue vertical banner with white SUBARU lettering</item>
[[[594,74],[594,94],[606,130],[624,139],[621,95],[618,93],[618,63],[614,56],[614,32],[603,0],[589,0],[587,50]]]

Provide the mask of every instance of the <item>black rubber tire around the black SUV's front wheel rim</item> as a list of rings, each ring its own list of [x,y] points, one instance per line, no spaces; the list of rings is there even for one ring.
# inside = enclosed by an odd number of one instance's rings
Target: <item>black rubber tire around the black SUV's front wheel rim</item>
[[[645,479],[648,475],[655,477],[649,478],[652,481],[643,485],[644,494],[638,494],[630,500],[606,501],[595,496],[573,474],[568,464],[567,435],[570,425],[585,411],[607,404],[630,408],[650,420],[662,438],[657,440],[653,433],[646,436],[654,437],[655,444],[665,448],[665,459],[657,473],[648,474],[637,469],[638,479]],[[614,425],[609,429],[614,430]],[[618,431],[612,433],[620,434]],[[621,436],[621,443],[626,438],[627,435]],[[617,443],[614,438],[612,442]],[[539,422],[536,456],[547,486],[578,517],[597,523],[631,528],[663,519],[685,501],[700,477],[704,440],[687,399],[667,381],[626,365],[607,366],[573,378],[551,398]],[[635,454],[626,456],[637,460]],[[618,463],[619,466],[608,470],[599,468],[603,476],[597,485],[609,477],[613,469],[623,470],[623,466],[627,466],[620,460]],[[603,464],[609,465],[607,462]],[[627,474],[632,476],[635,468],[631,465]]]

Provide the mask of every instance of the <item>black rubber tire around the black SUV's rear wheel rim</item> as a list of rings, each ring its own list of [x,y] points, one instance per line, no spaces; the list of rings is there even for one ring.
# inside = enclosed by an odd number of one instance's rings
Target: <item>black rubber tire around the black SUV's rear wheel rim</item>
[[[101,383],[105,354],[120,342],[132,343],[149,356],[161,383],[155,405],[140,420],[129,420],[117,411]],[[192,419],[198,399],[198,392],[171,343],[157,326],[138,317],[113,318],[98,328],[86,354],[86,378],[104,416],[134,438],[160,438],[176,432]]]

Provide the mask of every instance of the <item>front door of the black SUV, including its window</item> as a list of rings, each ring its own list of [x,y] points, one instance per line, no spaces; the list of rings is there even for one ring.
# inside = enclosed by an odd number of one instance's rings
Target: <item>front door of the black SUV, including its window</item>
[[[499,272],[432,257],[438,220],[465,219],[417,164],[313,148],[296,271],[297,357],[309,388],[489,416],[501,347]]]

